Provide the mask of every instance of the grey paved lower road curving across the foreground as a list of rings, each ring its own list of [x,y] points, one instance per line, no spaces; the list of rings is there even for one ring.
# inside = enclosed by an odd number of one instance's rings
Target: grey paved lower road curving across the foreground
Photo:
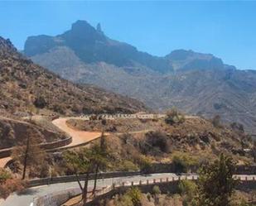
[[[139,180],[153,180],[153,179],[165,179],[165,178],[177,177],[172,173],[165,174],[153,174],[153,175],[135,175],[128,177],[118,177],[105,180],[98,180],[99,187],[106,185],[111,185],[113,183],[122,182],[138,182]],[[93,181],[89,181],[89,185],[93,185]],[[27,189],[23,194],[12,194],[5,201],[0,204],[0,206],[30,206],[31,202],[36,196],[43,196],[46,194],[51,194],[51,192],[62,191],[70,188],[78,188],[77,182],[62,183],[62,184],[50,184],[46,186],[35,187]]]

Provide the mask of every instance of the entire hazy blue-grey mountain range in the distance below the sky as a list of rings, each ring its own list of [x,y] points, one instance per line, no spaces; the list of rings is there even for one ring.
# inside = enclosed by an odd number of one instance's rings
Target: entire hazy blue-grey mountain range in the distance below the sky
[[[28,37],[24,54],[75,83],[95,84],[157,110],[220,114],[256,132],[256,73],[226,65],[214,55],[174,50],[153,56],[111,40],[100,26],[85,21],[58,36]]]

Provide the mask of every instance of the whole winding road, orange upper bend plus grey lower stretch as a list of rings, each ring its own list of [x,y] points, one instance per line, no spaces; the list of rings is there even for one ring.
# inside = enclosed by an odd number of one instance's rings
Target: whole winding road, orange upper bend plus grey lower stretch
[[[93,141],[94,139],[97,139],[100,137],[101,132],[84,132],[84,131],[78,131],[71,127],[68,127],[66,124],[66,121],[70,118],[74,117],[61,117],[56,120],[54,120],[52,123],[59,127],[60,130],[66,132],[67,134],[72,137],[72,142],[67,145],[63,146],[62,148],[69,148],[74,146],[81,146],[85,145],[89,141]],[[7,157],[10,158],[10,157]],[[6,158],[3,158],[0,160],[1,162],[4,162]],[[241,178],[247,178],[247,179],[256,179],[256,175],[239,175]],[[126,177],[118,177],[118,178],[109,178],[105,180],[98,180],[98,187],[102,188],[104,186],[108,186],[111,184],[120,184],[122,182],[138,182],[139,180],[159,180],[159,179],[171,179],[172,177],[177,178],[178,176],[173,173],[162,173],[162,174],[151,174],[151,175],[133,175],[133,176],[126,176]],[[188,175],[188,177],[191,177],[191,175]],[[93,180],[89,181],[89,187],[93,186]],[[7,199],[0,201],[0,206],[31,206],[32,201],[37,196],[43,196],[46,194],[51,194],[53,192],[63,191],[65,189],[71,189],[71,188],[78,188],[77,182],[68,182],[68,183],[61,183],[61,184],[50,184],[50,185],[44,185],[39,187],[33,187],[30,189],[26,189],[25,192],[22,194],[12,194]]]

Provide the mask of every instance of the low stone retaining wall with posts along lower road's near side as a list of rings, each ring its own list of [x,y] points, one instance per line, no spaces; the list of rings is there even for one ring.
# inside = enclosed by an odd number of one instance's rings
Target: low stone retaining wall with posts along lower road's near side
[[[192,176],[189,180],[196,181],[197,177]],[[153,186],[159,186],[162,194],[175,194],[178,191],[178,184],[180,180],[186,180],[186,177],[172,178],[172,179],[159,179],[159,180],[150,180],[150,181],[139,181],[136,183],[123,183],[119,185],[113,184],[109,188],[99,190],[97,196],[90,200],[86,206],[98,205],[99,201],[111,199],[115,194],[123,194],[129,188],[136,186],[141,189],[142,193],[151,193]],[[244,178],[241,180],[241,183],[238,185],[237,189],[241,189],[247,191],[249,189],[256,189],[256,181],[255,179],[247,179]],[[68,199],[80,194],[80,189],[71,189],[65,190],[62,192],[46,195],[43,197],[39,197],[34,199],[34,206],[57,206],[60,204],[64,204]],[[74,206],[82,206],[82,204],[75,204]]]

